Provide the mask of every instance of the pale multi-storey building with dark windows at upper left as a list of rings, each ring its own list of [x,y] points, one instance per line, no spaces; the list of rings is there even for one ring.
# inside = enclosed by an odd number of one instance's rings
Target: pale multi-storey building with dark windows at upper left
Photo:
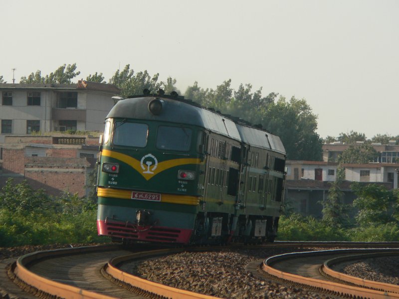
[[[0,84],[0,160],[6,135],[102,131],[120,90],[110,84]]]

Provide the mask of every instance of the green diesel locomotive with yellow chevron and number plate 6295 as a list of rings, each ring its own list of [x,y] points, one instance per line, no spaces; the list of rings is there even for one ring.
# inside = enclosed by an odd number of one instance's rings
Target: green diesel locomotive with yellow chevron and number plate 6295
[[[286,152],[279,137],[178,96],[120,99],[100,137],[98,235],[115,241],[273,241]]]

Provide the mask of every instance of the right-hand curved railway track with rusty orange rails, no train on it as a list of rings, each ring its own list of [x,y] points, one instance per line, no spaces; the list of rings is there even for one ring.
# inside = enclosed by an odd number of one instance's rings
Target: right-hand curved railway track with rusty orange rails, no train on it
[[[263,262],[262,271],[302,287],[350,298],[399,298],[399,286],[334,271],[332,266],[368,258],[397,256],[399,249],[346,249],[282,254]]]

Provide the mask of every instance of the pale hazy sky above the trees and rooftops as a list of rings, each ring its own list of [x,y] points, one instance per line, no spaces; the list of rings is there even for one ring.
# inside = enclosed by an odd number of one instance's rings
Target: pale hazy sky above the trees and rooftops
[[[321,137],[399,135],[398,0],[0,0],[0,75],[126,64],[263,95],[305,98]]]

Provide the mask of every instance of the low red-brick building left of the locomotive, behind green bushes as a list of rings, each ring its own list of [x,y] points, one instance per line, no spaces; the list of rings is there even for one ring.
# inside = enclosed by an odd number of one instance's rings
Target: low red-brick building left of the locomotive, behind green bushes
[[[26,179],[47,194],[63,191],[85,196],[95,168],[98,138],[91,136],[5,136],[0,187],[8,177]]]

